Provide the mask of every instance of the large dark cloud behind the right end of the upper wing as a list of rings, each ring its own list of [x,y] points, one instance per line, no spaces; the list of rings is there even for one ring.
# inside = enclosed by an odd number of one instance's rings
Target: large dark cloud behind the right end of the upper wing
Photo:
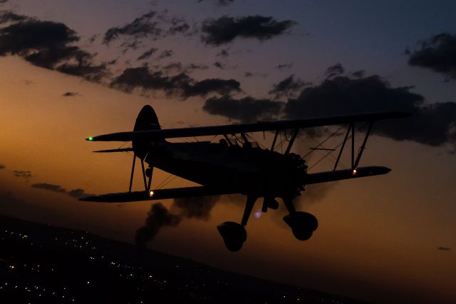
[[[338,116],[353,113],[405,111],[410,118],[379,122],[373,131],[395,140],[410,140],[430,146],[456,141],[456,103],[423,104],[423,96],[410,87],[392,88],[379,76],[349,78],[336,76],[318,86],[305,88],[298,98],[289,99],[285,118]]]

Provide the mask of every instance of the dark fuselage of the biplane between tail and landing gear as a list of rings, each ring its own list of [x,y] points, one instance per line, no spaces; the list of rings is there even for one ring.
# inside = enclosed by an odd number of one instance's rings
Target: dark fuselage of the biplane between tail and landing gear
[[[139,152],[139,151],[138,151]],[[151,142],[137,153],[149,166],[202,186],[283,197],[304,188],[304,161],[290,153],[220,143]]]

